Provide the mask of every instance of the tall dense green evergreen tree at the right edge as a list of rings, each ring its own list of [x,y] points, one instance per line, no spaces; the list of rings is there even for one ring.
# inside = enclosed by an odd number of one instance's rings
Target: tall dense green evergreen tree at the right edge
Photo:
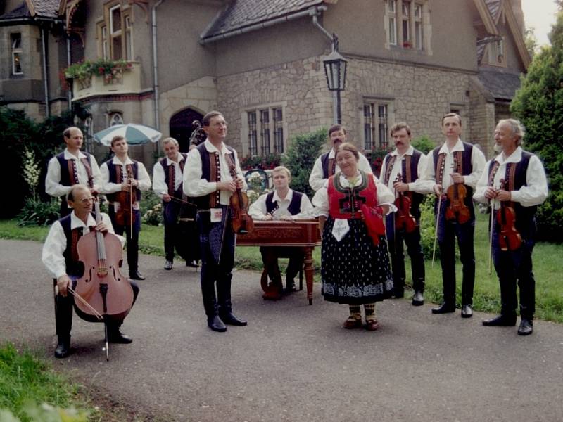
[[[550,32],[551,46],[534,56],[510,110],[526,127],[524,145],[543,160],[550,195],[538,210],[538,238],[563,236],[563,13]]]

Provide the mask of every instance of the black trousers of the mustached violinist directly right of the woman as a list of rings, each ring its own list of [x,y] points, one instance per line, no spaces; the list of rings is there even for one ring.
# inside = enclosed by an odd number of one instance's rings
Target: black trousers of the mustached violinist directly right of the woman
[[[395,230],[395,215],[386,216],[386,236],[391,256],[391,269],[393,270],[393,288],[404,290],[405,288],[405,252],[403,242],[407,245],[407,253],[410,257],[410,269],[412,274],[412,288],[415,292],[424,292],[424,253],[420,245],[420,226],[417,221],[417,228],[412,233]]]

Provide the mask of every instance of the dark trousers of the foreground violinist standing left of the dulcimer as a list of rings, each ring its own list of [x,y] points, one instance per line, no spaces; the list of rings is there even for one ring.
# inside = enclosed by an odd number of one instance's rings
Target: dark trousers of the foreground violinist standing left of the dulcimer
[[[210,212],[198,212],[196,217],[201,247],[201,295],[208,319],[232,310],[231,279],[235,236],[228,214],[229,207],[223,207],[222,222],[213,223],[210,222]]]

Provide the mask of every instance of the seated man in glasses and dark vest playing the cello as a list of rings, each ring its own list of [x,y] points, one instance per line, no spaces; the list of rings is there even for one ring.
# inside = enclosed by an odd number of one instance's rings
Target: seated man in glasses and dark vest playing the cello
[[[72,186],[66,199],[72,212],[53,223],[43,245],[42,253],[42,261],[46,269],[57,281],[55,321],[58,345],[55,357],[58,358],[67,357],[70,353],[72,306],[75,299],[68,293],[68,288],[75,287],[76,280],[80,279],[84,271],[78,261],[77,243],[80,237],[89,233],[91,229],[102,233],[113,233],[113,226],[107,214],[102,214],[102,221],[99,224],[96,224],[96,220],[91,215],[94,198],[87,186]],[[121,236],[118,237],[123,245],[125,240]],[[129,282],[133,288],[135,300],[139,287],[134,281]],[[83,314],[79,309],[77,309],[77,314],[87,321],[97,321],[90,315]],[[131,343],[133,341],[120,332],[122,322],[122,320],[113,321],[112,324],[108,324],[108,340],[111,343]]]

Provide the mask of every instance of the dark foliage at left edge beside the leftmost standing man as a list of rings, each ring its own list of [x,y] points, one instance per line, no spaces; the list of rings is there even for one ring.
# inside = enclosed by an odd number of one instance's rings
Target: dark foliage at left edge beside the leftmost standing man
[[[49,117],[42,123],[36,123],[20,110],[0,107],[0,155],[4,165],[0,168],[1,180],[6,184],[6,200],[2,201],[0,217],[14,217],[30,194],[30,186],[23,177],[25,147],[33,151],[41,173],[38,192],[44,195],[46,166],[54,153],[63,150],[63,131],[72,124],[72,115]]]

